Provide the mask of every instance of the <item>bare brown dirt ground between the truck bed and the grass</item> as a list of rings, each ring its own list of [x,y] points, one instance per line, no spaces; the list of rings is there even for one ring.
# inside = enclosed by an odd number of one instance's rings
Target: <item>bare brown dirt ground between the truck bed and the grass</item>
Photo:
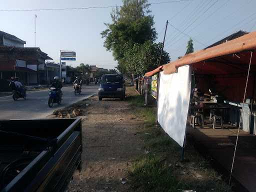
[[[127,89],[126,96],[135,94]],[[75,172],[67,191],[130,191],[126,180],[132,160],[143,154],[143,140],[137,131],[143,120],[134,115],[127,101],[97,96],[83,101],[82,171]]]

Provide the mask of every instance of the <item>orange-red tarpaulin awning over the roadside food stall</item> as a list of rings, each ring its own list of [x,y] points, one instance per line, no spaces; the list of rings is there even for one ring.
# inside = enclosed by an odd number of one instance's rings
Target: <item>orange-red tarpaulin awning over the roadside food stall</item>
[[[246,51],[254,49],[256,49],[256,31],[222,44],[187,54],[180,59],[147,72],[145,76],[151,76],[159,72],[160,69],[163,69],[164,74],[170,74],[175,72],[177,67],[187,64],[192,64],[194,67],[196,66],[196,68],[202,69],[204,73],[207,70],[215,74],[226,74],[234,72],[230,71],[234,70],[234,68],[236,68],[235,70],[237,71],[241,71],[244,70],[246,68],[245,65],[248,64],[248,52]],[[252,63],[256,61],[254,54],[255,53],[253,53],[252,56]],[[205,62],[211,64],[207,65],[205,68]],[[221,66],[221,68],[218,66]],[[253,66],[252,70],[254,69],[255,66]]]

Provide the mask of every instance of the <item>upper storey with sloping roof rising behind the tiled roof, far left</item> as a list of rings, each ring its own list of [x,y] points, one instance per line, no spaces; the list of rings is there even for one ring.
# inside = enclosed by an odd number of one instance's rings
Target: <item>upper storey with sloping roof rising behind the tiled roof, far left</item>
[[[20,38],[0,31],[0,46],[15,46],[15,47],[24,47],[26,41],[21,40]]]

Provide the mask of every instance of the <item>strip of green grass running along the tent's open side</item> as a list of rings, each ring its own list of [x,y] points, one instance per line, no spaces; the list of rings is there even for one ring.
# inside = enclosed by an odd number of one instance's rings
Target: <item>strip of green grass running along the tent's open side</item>
[[[211,168],[209,161],[194,149],[191,142],[187,141],[185,160],[180,161],[180,146],[155,125],[156,109],[145,107],[142,96],[130,96],[128,101],[136,106],[136,115],[144,119],[141,134],[144,148],[148,151],[148,154],[135,160],[128,170],[132,191],[231,191],[231,187]]]

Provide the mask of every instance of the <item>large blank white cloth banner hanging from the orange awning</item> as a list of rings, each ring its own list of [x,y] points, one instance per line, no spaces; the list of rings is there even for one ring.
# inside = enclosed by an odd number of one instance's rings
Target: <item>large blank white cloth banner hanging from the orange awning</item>
[[[177,72],[172,74],[160,72],[157,120],[181,147],[186,131],[190,87],[189,65],[178,67]]]

